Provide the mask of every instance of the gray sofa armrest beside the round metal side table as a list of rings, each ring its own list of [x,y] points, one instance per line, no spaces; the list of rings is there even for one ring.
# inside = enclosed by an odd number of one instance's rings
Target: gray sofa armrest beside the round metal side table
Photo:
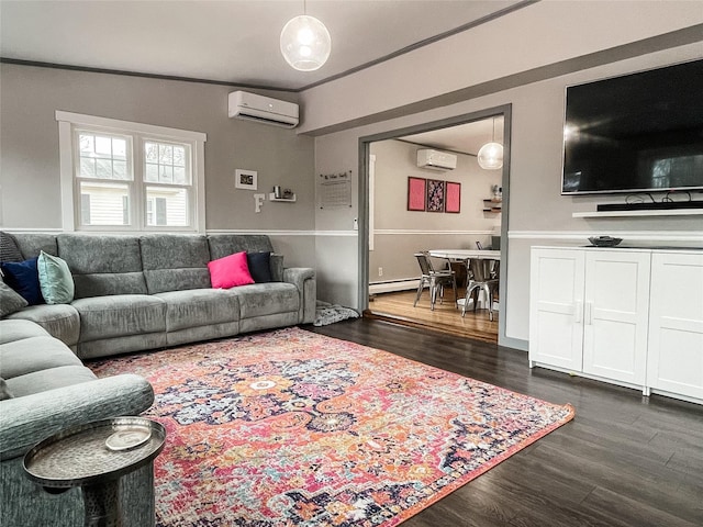
[[[0,402],[0,459],[23,456],[53,434],[93,421],[138,415],[154,403],[148,381],[131,373]]]

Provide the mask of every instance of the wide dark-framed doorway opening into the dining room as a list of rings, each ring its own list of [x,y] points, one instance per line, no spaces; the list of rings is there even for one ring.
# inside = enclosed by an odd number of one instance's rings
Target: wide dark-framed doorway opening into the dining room
[[[500,343],[504,338],[510,123],[511,106],[504,105],[359,139],[359,306],[365,316],[486,341]],[[482,169],[477,162],[479,148],[488,142],[503,145],[500,169]],[[449,155],[449,165],[456,159],[456,168],[428,169],[417,157],[417,150],[425,149]],[[422,153],[421,157],[424,159],[425,155]],[[434,200],[427,206],[428,184],[442,189],[442,203]],[[417,206],[420,191],[425,192],[424,210]],[[409,203],[409,192],[416,194],[413,203]],[[447,192],[454,192],[453,197]],[[434,310],[427,290],[413,306],[421,274],[414,254],[431,249],[476,250],[477,243],[500,255],[498,266],[502,272],[495,288],[499,307],[493,321],[483,309],[487,299],[480,298],[476,298],[479,309],[473,312],[469,304],[466,316],[461,316],[453,288],[445,289],[444,302],[436,302]],[[455,270],[459,281],[457,296],[464,300],[470,278],[469,260],[433,261]]]

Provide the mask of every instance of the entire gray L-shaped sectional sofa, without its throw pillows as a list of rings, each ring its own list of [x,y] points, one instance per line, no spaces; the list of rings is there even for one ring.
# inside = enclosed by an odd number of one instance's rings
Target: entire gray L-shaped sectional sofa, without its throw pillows
[[[208,262],[272,251],[260,235],[15,235],[25,259],[41,251],[72,274],[68,304],[31,305],[0,319],[0,525],[82,525],[80,491],[51,495],[24,475],[26,451],[56,431],[154,400],[137,375],[96,379],[81,359],[158,349],[244,332],[312,323],[315,276],[270,255],[272,281],[213,289]],[[5,382],[7,380],[7,382]],[[7,395],[11,395],[7,399]],[[124,478],[125,526],[154,525],[153,471]]]

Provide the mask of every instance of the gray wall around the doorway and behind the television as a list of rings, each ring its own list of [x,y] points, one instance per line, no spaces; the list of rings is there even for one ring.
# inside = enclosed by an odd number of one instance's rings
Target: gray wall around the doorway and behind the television
[[[667,51],[641,55],[626,60],[617,60],[599,67],[588,68],[573,74],[549,78],[539,82],[526,83],[510,90],[499,91],[470,99],[460,103],[438,108],[414,115],[403,116],[380,123],[369,124],[343,132],[321,135],[316,138],[316,162],[324,167],[332,159],[348,159],[354,162],[358,156],[360,137],[381,134],[421,123],[477,112],[484,109],[512,104],[512,149],[510,153],[510,224],[509,224],[509,264],[502,267],[501,274],[507,281],[504,302],[501,302],[501,316],[506,317],[503,343],[526,348],[529,318],[529,247],[544,245],[545,238],[554,243],[587,243],[591,235],[620,235],[626,240],[660,244],[703,245],[703,221],[701,216],[688,217],[639,217],[639,218],[599,218],[585,220],[572,217],[577,211],[595,211],[598,203],[622,202],[624,195],[560,195],[561,144],[563,126],[565,89],[568,85],[585,82],[614,75],[665,66],[691,58],[701,57],[700,43],[684,45]],[[698,199],[702,197],[698,195]],[[505,204],[503,205],[505,206]],[[349,211],[338,217],[325,217],[327,225],[342,225]],[[505,240],[503,240],[505,247]],[[346,246],[350,251],[356,240]],[[344,279],[350,285],[337,288],[337,302],[346,305],[357,304],[358,266],[338,265],[341,247],[335,251],[317,246],[317,268],[334,267],[346,270]],[[321,288],[325,289],[325,283]],[[503,300],[503,299],[501,299]],[[505,307],[503,309],[503,305]]]

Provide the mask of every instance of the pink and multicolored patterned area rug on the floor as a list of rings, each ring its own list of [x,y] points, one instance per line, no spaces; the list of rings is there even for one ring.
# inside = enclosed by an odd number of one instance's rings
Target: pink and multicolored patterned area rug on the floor
[[[299,328],[89,366],[154,386],[160,527],[391,527],[573,418]]]

